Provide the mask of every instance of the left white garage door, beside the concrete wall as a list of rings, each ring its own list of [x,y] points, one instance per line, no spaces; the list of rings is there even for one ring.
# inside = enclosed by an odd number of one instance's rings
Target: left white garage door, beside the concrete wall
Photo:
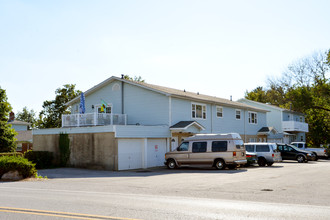
[[[142,168],[143,139],[118,140],[118,170]]]

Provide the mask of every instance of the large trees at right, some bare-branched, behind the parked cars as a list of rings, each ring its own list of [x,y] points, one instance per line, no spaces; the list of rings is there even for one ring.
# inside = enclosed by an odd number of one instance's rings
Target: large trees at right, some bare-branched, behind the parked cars
[[[307,142],[329,144],[329,70],[330,50],[315,53],[293,62],[280,78],[268,79],[267,89],[246,92],[245,98],[304,113],[309,124]]]

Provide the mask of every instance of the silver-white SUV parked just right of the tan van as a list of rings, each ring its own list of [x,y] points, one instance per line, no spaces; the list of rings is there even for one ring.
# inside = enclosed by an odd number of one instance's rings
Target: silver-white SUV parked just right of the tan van
[[[261,167],[271,166],[275,162],[281,162],[281,153],[278,152],[274,143],[245,143],[247,153],[256,153],[258,157],[258,165]]]

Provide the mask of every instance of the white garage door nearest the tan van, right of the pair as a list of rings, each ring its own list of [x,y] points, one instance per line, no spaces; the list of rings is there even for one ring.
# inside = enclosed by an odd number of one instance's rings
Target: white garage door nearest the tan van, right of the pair
[[[148,139],[148,167],[164,166],[166,139]]]

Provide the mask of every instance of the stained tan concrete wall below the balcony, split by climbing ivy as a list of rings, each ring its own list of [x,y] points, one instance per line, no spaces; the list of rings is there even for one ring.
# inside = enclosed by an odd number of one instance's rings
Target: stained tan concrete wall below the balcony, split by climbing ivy
[[[55,161],[59,161],[59,134],[34,135],[35,151],[54,153]],[[69,134],[70,166],[117,170],[118,143],[113,132]]]

